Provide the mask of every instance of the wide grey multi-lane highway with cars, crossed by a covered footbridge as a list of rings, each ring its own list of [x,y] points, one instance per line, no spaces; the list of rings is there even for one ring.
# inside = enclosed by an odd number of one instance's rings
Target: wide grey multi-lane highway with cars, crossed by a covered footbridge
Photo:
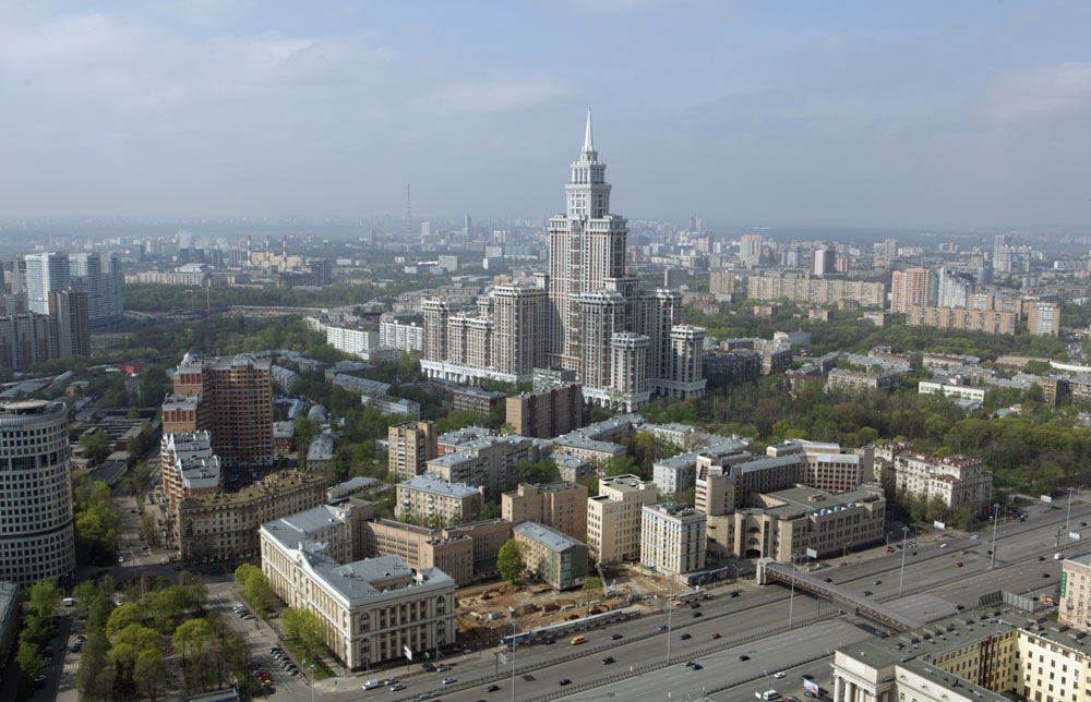
[[[1087,506],[1077,505],[1072,508],[1074,531],[1081,533],[1089,531],[1087,528],[1078,526],[1079,521],[1086,520],[1089,513],[1091,509]],[[851,556],[843,566],[837,565],[840,562],[839,558],[831,559],[834,567],[816,571],[814,574],[831,578],[834,583],[859,594],[870,592],[868,597],[895,608],[904,608],[907,614],[911,613],[925,619],[949,614],[956,606],[974,606],[978,604],[978,597],[998,590],[1032,594],[1048,592],[1056,595],[1060,564],[1053,558],[1053,554],[1057,550],[1058,526],[1065,520],[1066,512],[1060,509],[1042,511],[1027,522],[1007,521],[999,524],[996,560],[992,569],[991,557],[987,554],[993,549],[990,528],[986,532],[982,532],[978,540],[954,533],[919,538],[916,546],[911,546],[906,553],[903,581],[902,553],[896,550],[894,554],[886,554],[882,547],[868,555]],[[1066,529],[1065,532],[1067,531]],[[944,543],[948,545],[942,547]],[[1091,548],[1084,547],[1082,542],[1070,542],[1065,553],[1072,555],[1089,549]],[[959,562],[962,564],[961,567],[957,566]],[[728,597],[727,593],[733,589],[741,590],[742,595]],[[899,591],[902,592],[902,596],[899,596]],[[791,633],[771,636],[788,624],[788,591],[784,588],[728,586],[718,589],[717,593],[717,597],[707,601],[699,610],[676,608],[672,614],[674,630],[670,634],[670,655],[672,659],[681,659],[680,662],[628,679],[610,680],[609,685],[601,688],[579,689],[587,683],[627,673],[630,666],[639,667],[666,661],[668,634],[660,633],[659,628],[667,624],[667,618],[657,610],[649,609],[648,616],[642,619],[591,631],[587,634],[587,643],[579,646],[572,646],[567,641],[558,641],[553,645],[536,644],[519,649],[516,698],[529,699],[568,689],[572,690],[571,699],[578,700],[606,699],[610,693],[615,697],[625,694],[661,700],[668,699],[668,694],[678,698],[680,691],[681,697],[686,694],[693,697],[699,695],[703,690],[711,692],[723,688],[724,685],[739,682],[735,687],[716,692],[716,699],[741,700],[743,697],[753,699],[754,691],[764,685],[760,679],[753,680],[753,676],[760,676],[766,670],[771,675],[779,668],[787,669],[798,662],[810,661],[819,654],[825,655],[827,647],[834,649],[842,643],[873,636],[872,626],[854,617],[812,624],[796,628]],[[828,603],[822,608],[828,612]],[[813,621],[818,613],[819,603],[796,593],[793,609],[796,625],[805,620]],[[693,618],[695,612],[702,612],[703,616]],[[765,638],[757,641],[721,650],[727,642],[762,637],[763,632]],[[611,641],[611,636],[615,633],[621,633],[622,639]],[[683,633],[688,633],[690,638],[683,640],[681,638]],[[719,633],[720,639],[712,639],[715,633]],[[646,638],[634,640],[642,636]],[[818,646],[817,641],[829,641],[829,644]],[[611,647],[599,651],[602,646]],[[587,655],[548,665],[550,661],[567,656],[574,651],[587,651]],[[757,652],[758,655],[755,656],[751,652]],[[739,655],[748,655],[750,661],[740,661]],[[601,659],[606,656],[613,657],[615,662],[602,664]],[[703,668],[691,670],[684,667],[683,664],[691,659],[700,664]],[[403,682],[407,685],[403,694],[416,698],[424,692],[441,690],[444,700],[472,702],[482,699],[511,699],[509,659],[506,666],[497,665],[492,652],[478,652],[452,658],[448,663],[453,664],[449,673],[415,673],[409,677],[400,676]],[[526,666],[536,669],[525,671]],[[455,683],[449,687],[451,692],[447,693],[441,685],[441,678],[446,676],[464,681],[476,680],[494,675],[497,668],[503,673],[504,667],[507,674],[503,675],[503,679],[495,681],[495,685],[501,687],[500,691],[490,693],[485,690],[487,685],[456,690],[458,686]],[[801,669],[816,676],[827,675],[828,661],[814,661]],[[786,673],[791,671],[786,670]],[[562,688],[558,685],[562,679],[570,679],[573,682]],[[798,691],[801,687],[798,671],[781,680],[781,685],[770,687],[782,693]],[[344,685],[339,687],[340,691],[323,697],[337,700],[374,697],[382,697],[384,700],[395,697],[407,699],[385,689],[363,692],[359,688],[347,691]]]

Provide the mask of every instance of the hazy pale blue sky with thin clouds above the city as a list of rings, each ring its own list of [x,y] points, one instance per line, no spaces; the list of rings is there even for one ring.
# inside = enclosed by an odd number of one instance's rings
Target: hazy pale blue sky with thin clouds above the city
[[[1091,3],[0,0],[0,218],[1086,232]]]

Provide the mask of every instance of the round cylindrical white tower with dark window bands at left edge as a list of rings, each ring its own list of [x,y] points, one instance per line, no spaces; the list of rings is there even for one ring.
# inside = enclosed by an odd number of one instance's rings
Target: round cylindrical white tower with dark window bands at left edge
[[[0,580],[32,585],[75,571],[68,408],[25,400],[0,407]]]

